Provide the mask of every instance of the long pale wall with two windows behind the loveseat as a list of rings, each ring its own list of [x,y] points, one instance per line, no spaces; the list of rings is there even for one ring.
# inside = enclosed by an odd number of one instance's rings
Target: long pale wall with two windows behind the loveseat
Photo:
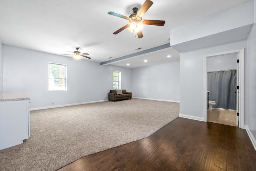
[[[68,91],[48,91],[48,62],[67,64]],[[107,100],[113,70],[132,91],[132,69],[3,45],[3,92],[27,93],[32,109]]]

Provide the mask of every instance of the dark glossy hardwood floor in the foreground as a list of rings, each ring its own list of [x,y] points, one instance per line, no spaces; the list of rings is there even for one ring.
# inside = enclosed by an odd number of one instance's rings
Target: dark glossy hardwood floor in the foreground
[[[246,130],[178,117],[147,138],[101,151],[58,171],[256,171]]]

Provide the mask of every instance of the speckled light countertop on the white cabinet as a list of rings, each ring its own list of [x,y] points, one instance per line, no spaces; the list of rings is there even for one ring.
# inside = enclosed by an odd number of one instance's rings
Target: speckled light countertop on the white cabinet
[[[30,100],[26,93],[0,93],[0,101]]]

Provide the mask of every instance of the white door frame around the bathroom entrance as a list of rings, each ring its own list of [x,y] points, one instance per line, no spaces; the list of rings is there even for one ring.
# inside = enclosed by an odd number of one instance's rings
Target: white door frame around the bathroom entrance
[[[226,52],[218,52],[215,54],[204,55],[204,122],[207,122],[207,61],[208,57],[213,56],[223,56],[228,54],[237,54],[238,56],[238,78],[239,78],[239,104],[238,104],[238,113],[239,113],[239,127],[244,129],[244,49],[230,50]]]

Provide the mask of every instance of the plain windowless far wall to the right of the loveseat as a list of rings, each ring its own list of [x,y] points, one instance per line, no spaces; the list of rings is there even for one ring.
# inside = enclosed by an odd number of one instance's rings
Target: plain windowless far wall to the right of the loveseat
[[[180,62],[133,69],[132,96],[180,101]]]

